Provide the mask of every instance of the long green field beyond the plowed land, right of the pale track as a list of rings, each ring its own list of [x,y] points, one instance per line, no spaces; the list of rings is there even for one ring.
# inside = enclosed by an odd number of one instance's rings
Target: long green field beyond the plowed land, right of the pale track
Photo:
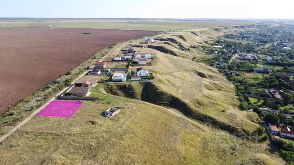
[[[103,28],[103,29],[130,29],[130,30],[154,30],[169,31],[176,29],[196,29],[199,27],[179,26],[179,25],[160,25],[160,24],[129,24],[125,22],[69,22],[69,23],[52,23],[56,28]],[[200,27],[201,28],[201,27]]]

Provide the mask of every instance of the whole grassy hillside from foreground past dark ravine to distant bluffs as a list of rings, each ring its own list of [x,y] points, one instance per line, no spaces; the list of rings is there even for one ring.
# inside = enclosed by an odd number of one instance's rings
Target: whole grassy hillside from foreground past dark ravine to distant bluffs
[[[100,86],[96,92],[112,94],[107,96],[112,99],[84,101],[70,118],[34,117],[0,144],[0,160],[5,164],[285,164],[272,152],[265,134],[256,135],[258,116],[238,109],[234,86],[216,68],[192,61],[199,56],[197,50],[176,48],[227,31],[160,36],[167,40],[148,45],[154,49],[155,61],[146,68],[153,72],[154,82],[105,83],[105,91]],[[180,37],[185,34],[190,39]],[[106,118],[103,112],[110,107],[121,112]]]

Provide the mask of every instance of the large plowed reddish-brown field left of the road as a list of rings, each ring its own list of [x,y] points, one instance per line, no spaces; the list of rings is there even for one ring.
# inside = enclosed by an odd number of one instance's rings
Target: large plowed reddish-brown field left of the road
[[[157,32],[70,28],[0,30],[0,115],[103,48]]]

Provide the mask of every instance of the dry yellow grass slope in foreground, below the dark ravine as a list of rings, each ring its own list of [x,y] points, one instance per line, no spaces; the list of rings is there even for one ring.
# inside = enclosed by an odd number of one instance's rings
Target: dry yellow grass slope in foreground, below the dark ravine
[[[109,107],[121,112],[111,119],[101,116]],[[85,101],[71,118],[36,116],[3,141],[0,159],[5,164],[237,164],[261,161],[262,155],[266,163],[283,163],[267,149],[149,103]]]

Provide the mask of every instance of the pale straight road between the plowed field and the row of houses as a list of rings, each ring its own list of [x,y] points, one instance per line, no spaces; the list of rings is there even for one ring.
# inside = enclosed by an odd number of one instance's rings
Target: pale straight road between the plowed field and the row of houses
[[[114,48],[112,48],[105,56],[107,56],[109,53],[111,53],[117,46],[115,46]],[[104,56],[104,57],[105,57]],[[102,59],[104,58],[102,57]],[[92,66],[93,68],[94,66]],[[81,79],[81,77],[83,77],[88,71],[83,72],[76,80]],[[75,80],[74,80],[75,81]],[[71,82],[71,84],[74,83]],[[55,100],[55,98],[59,97],[62,93],[64,93],[66,90],[68,90],[70,88],[70,85],[67,86],[66,88],[64,88],[62,91],[60,91],[57,95],[55,95],[53,98],[51,98],[49,101],[47,101],[43,106],[41,106],[40,108],[38,108],[35,112],[33,112],[30,116],[28,116],[25,120],[23,120],[21,123],[19,123],[19,127],[25,125],[25,123],[27,123],[28,121],[30,121],[34,116],[36,116],[40,111],[42,111],[47,105],[49,105],[52,101]],[[16,127],[14,127],[11,131],[9,131],[9,133],[5,134],[4,136],[2,136],[0,138],[0,143],[6,139],[9,135],[13,134],[16,130],[18,130],[18,125]]]

